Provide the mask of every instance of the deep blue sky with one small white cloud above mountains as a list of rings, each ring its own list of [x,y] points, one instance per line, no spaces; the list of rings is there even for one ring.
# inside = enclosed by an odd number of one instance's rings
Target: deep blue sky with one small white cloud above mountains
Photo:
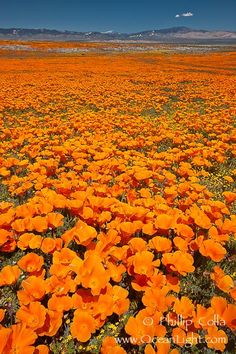
[[[137,32],[173,26],[236,31],[236,0],[0,0],[4,28]]]

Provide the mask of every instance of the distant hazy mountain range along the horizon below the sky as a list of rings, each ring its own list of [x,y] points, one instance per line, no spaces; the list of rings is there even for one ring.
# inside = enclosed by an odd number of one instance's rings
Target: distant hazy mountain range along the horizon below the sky
[[[194,42],[218,41],[236,43],[236,32],[207,31],[188,27],[172,27],[137,33],[76,32],[50,29],[0,28],[0,39],[60,40],[60,41],[135,41],[135,42]]]

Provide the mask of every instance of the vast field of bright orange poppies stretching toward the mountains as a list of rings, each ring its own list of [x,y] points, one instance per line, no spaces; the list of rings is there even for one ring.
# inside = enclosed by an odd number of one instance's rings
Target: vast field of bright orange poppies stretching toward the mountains
[[[235,52],[0,51],[0,353],[234,353]]]

